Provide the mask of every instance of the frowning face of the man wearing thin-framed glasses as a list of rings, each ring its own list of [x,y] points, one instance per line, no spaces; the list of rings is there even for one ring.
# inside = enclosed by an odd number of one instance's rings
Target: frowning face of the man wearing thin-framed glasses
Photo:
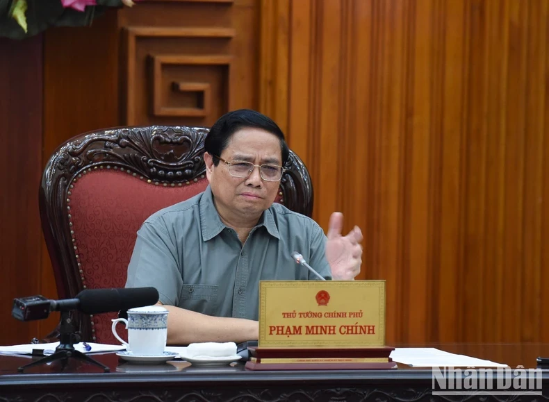
[[[236,131],[219,156],[227,162],[244,160],[254,165],[282,165],[278,137],[259,128]],[[208,153],[204,160],[215,205],[222,216],[259,219],[276,198],[280,181],[264,181],[259,167],[254,167],[247,178],[239,178],[229,174],[229,165],[222,160],[215,166]]]

